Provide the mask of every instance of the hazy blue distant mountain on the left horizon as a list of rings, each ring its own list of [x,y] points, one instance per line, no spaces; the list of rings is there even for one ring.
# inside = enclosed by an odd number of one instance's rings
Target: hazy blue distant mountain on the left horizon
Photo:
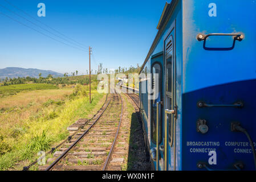
[[[27,76],[38,78],[39,73],[42,73],[42,77],[47,77],[49,74],[51,74],[53,77],[63,77],[62,73],[57,73],[50,70],[8,67],[8,68],[0,69],[0,78],[6,78],[6,77],[18,78],[18,77],[27,77]]]

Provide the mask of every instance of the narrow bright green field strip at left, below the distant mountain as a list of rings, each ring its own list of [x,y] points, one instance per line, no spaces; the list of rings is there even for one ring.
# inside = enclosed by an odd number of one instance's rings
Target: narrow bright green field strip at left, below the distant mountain
[[[50,84],[20,84],[20,85],[9,85],[0,86],[0,97],[15,95],[18,92],[24,90],[47,90],[47,89],[59,89],[58,86]]]

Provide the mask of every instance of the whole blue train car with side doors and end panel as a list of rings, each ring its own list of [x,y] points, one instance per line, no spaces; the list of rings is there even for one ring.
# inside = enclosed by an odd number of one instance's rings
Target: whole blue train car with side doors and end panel
[[[149,76],[139,93],[156,170],[255,170],[255,10],[254,0],[166,3],[140,72],[159,73],[159,97],[141,92]]]

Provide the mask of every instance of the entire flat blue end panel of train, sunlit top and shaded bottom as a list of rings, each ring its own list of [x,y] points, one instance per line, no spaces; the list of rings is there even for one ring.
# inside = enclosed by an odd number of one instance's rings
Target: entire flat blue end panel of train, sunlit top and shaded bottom
[[[198,162],[221,170],[235,169],[233,164],[241,162],[245,164],[245,169],[255,169],[245,134],[231,132],[230,126],[231,122],[240,122],[256,141],[256,2],[186,0],[182,3],[182,169],[197,170]],[[217,16],[209,16],[213,8],[209,8],[210,3],[215,3]],[[237,32],[244,34],[245,39],[236,41],[234,48],[229,51],[205,49],[203,42],[196,39],[199,33]],[[206,39],[206,46],[211,48],[226,48],[232,43],[232,36],[211,36]],[[244,107],[199,108],[198,101],[208,104],[242,101]],[[198,119],[207,121],[208,133],[197,132]],[[229,142],[243,143],[242,146],[229,146],[232,144]],[[208,163],[208,148],[216,150],[217,164]]]

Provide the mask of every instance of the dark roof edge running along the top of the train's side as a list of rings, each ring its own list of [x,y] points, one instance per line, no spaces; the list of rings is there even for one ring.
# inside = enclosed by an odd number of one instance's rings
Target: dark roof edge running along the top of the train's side
[[[174,10],[174,7],[177,5],[178,0],[172,0],[170,3],[166,2],[165,6],[164,6],[164,10],[162,11],[159,23],[157,24],[157,30],[159,30],[156,34],[156,38],[153,41],[153,44],[151,46],[151,48],[149,49],[148,55],[140,69],[140,73],[143,70],[145,64],[147,63],[149,57],[151,56],[153,50],[156,47],[157,42],[159,41],[159,38],[162,34],[162,31],[164,31],[164,28],[166,26],[166,23],[168,22],[170,16],[172,15],[172,12]]]

